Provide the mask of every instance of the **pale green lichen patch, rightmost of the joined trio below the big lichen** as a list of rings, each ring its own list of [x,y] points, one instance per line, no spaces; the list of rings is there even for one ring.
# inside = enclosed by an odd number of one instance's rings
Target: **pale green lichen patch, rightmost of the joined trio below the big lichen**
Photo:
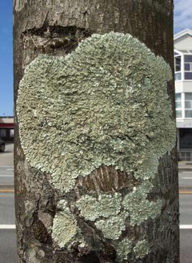
[[[147,193],[151,191],[153,185],[145,181],[138,188],[134,188],[132,193],[125,196],[122,204],[126,211],[129,211],[130,224],[132,226],[140,225],[149,218],[155,219],[160,215],[162,200],[156,202],[147,200]]]

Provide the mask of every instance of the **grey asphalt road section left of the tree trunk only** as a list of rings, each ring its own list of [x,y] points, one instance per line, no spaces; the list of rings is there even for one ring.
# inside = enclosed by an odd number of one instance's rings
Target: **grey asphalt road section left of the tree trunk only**
[[[17,263],[14,193],[5,192],[13,189],[13,144],[6,144],[6,151],[0,153],[0,262]],[[4,191],[4,192],[3,192]]]

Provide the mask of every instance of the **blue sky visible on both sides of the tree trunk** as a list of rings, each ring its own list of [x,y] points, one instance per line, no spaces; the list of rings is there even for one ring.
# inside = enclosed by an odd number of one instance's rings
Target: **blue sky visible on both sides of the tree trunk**
[[[174,33],[192,29],[191,0],[175,0],[174,3]],[[12,0],[0,0],[0,38],[0,116],[12,116]]]

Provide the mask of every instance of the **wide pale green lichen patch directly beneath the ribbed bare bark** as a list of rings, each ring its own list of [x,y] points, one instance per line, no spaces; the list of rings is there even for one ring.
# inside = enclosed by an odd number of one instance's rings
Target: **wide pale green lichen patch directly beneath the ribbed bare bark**
[[[83,195],[76,202],[85,220],[94,221],[98,217],[109,217],[120,212],[122,197],[120,193],[114,195],[99,195],[98,198],[91,195]]]

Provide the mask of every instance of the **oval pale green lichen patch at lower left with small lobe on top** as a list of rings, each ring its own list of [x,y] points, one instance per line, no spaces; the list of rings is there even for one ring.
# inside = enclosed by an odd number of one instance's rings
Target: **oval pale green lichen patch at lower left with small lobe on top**
[[[74,240],[78,233],[78,226],[65,201],[58,203],[58,208],[63,210],[56,213],[54,217],[52,237],[58,246],[65,247]]]

